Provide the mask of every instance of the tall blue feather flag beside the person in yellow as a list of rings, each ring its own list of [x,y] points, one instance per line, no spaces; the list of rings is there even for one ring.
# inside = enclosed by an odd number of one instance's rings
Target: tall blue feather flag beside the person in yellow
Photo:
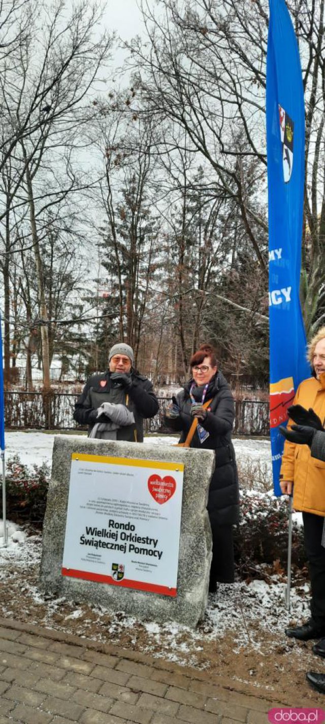
[[[267,181],[269,196],[270,434],[274,492],[284,439],[279,426],[298,384],[311,376],[299,286],[305,178],[305,107],[295,31],[285,0],[269,0]]]

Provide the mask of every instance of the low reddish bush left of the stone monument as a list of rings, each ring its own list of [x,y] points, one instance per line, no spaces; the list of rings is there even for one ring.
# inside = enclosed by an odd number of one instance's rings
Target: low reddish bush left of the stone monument
[[[46,508],[50,467],[48,463],[28,468],[19,455],[6,463],[6,518],[13,523],[32,523],[41,528]],[[2,485],[1,485],[2,517]]]

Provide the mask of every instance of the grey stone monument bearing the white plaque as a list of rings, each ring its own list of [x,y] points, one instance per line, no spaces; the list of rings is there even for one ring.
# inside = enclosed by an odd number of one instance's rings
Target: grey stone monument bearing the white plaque
[[[212,450],[57,435],[42,589],[196,626],[207,606],[214,466]]]

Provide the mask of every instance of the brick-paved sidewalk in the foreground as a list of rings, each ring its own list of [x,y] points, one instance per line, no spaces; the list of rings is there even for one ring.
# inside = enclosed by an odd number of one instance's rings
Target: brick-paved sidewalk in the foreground
[[[0,618],[0,724],[266,724],[268,710],[285,704],[313,706],[296,696],[295,704],[264,699],[232,679]]]

